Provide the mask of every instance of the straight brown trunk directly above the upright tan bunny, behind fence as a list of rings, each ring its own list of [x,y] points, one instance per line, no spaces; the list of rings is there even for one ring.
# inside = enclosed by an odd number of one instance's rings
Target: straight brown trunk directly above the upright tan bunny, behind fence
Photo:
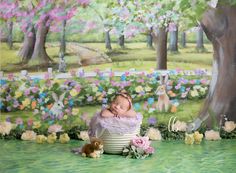
[[[167,69],[167,32],[166,28],[157,31],[157,69]]]

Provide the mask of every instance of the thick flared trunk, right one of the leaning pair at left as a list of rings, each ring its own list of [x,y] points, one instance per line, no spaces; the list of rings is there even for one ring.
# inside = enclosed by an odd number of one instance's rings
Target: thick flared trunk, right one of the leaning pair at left
[[[34,46],[34,52],[30,62],[37,65],[48,65],[50,57],[48,56],[45,48],[46,37],[50,26],[46,26],[49,17],[46,17],[39,25],[36,33],[36,42]]]

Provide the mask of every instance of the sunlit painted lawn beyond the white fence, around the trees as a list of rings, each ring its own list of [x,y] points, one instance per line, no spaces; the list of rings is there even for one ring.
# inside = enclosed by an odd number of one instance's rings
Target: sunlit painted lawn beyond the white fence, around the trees
[[[66,62],[68,69],[77,69],[78,58],[76,49],[70,47],[73,44],[68,44],[66,56]],[[87,46],[91,48],[98,49],[105,52],[104,43],[81,43],[82,46]],[[15,65],[19,63],[20,59],[17,57],[17,53],[21,47],[20,43],[14,43],[14,49],[9,50],[5,43],[1,44],[1,70],[8,72],[19,72],[21,69],[28,69],[31,72],[42,72],[46,68],[40,67],[22,67],[20,65]],[[73,46],[75,47],[75,46]],[[111,57],[112,63],[83,66],[85,71],[93,71],[96,68],[104,70],[106,68],[112,68],[113,70],[125,71],[130,68],[136,68],[137,70],[149,70],[150,68],[156,67],[156,51],[148,49],[146,43],[127,43],[125,49],[120,49],[117,44],[112,44],[113,51],[107,52]],[[197,53],[195,51],[195,44],[187,44],[187,48],[179,48],[179,53],[173,54],[168,53],[168,69],[185,69],[193,70],[197,68],[211,69],[212,62],[212,46],[210,44],[205,44],[207,52]],[[49,43],[47,44],[47,52],[50,57],[52,57],[55,62],[58,62],[58,44]],[[57,68],[57,66],[55,66]]]

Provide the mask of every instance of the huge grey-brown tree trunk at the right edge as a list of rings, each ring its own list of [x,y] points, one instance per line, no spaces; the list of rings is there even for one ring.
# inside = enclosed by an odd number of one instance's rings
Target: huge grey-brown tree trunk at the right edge
[[[236,7],[219,6],[203,15],[202,28],[214,49],[213,76],[204,107],[192,124],[197,129],[206,120],[208,127],[223,115],[236,122]]]

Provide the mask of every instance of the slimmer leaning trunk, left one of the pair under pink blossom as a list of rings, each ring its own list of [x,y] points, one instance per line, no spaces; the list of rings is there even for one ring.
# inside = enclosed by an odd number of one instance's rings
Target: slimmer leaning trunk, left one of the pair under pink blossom
[[[36,40],[35,30],[33,26],[29,26],[29,27],[31,27],[32,35],[29,36],[28,33],[24,34],[23,46],[18,54],[18,56],[21,57],[22,63],[28,63],[29,60],[31,59],[33,50],[34,50],[35,40]]]

